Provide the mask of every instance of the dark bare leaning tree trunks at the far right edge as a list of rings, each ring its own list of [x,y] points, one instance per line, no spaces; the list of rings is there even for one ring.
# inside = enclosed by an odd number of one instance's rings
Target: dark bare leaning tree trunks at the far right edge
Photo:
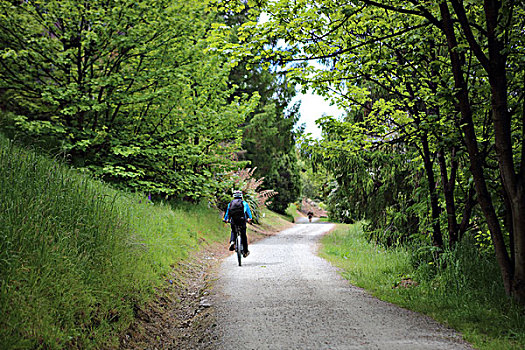
[[[520,62],[513,62],[517,54],[516,48],[523,48],[522,33],[513,22],[514,15],[523,15],[525,6],[513,1],[485,1],[483,7],[477,10],[485,18],[467,16],[465,4],[457,0],[451,1],[452,8],[458,20],[462,35],[468,42],[470,50],[488,75],[491,88],[491,113],[494,128],[494,147],[498,158],[501,182],[504,191],[506,207],[506,229],[510,235],[510,256],[505,243],[503,227],[500,224],[493,199],[487,189],[483,164],[479,162],[479,146],[474,128],[472,107],[468,82],[463,77],[464,54],[458,51],[456,29],[452,22],[448,3],[440,4],[442,31],[447,38],[450,61],[454,73],[454,83],[457,89],[457,108],[462,117],[463,139],[471,161],[471,172],[474,177],[478,201],[490,228],[496,256],[503,275],[505,289],[521,303],[525,303],[525,118],[519,113],[521,106],[509,106],[509,85],[518,87],[517,81],[509,84],[508,69],[516,66],[525,70]],[[515,14],[514,11],[517,13]],[[523,20],[523,16],[521,16]],[[483,30],[479,30],[482,28]],[[476,38],[474,30],[479,31]],[[516,47],[515,45],[519,45]],[[488,55],[486,54],[488,51]],[[521,92],[523,97],[523,90]],[[517,101],[515,101],[517,102]],[[523,112],[523,111],[522,111]],[[513,132],[521,129],[521,135]],[[513,140],[514,137],[514,140]]]

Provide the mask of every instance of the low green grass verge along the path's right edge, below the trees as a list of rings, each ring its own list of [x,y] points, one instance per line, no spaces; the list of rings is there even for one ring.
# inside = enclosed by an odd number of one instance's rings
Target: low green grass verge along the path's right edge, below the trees
[[[361,224],[338,225],[322,244],[321,256],[374,296],[430,315],[462,332],[476,348],[525,348],[525,310],[505,297],[493,261],[468,248],[451,253],[456,256],[449,260],[457,263],[428,278],[426,267],[412,267],[407,250],[367,242]],[[395,288],[405,278],[419,285]]]

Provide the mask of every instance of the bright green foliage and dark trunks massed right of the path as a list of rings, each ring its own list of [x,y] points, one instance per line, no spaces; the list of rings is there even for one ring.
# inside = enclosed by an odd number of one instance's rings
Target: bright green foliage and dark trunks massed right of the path
[[[349,112],[343,123],[325,122],[327,137],[317,147],[339,161],[327,166],[339,180],[337,199],[348,195],[343,181],[368,190],[366,181],[348,175],[354,169],[339,169],[346,160],[365,152],[378,152],[379,159],[386,149],[396,159],[406,157],[415,173],[392,183],[401,192],[419,178],[419,186],[405,194],[415,202],[380,203],[386,218],[377,220],[382,230],[390,235],[392,222],[413,227],[407,223],[415,216],[419,232],[400,233],[425,234],[439,251],[475,226],[490,232],[505,289],[525,302],[524,4],[283,0],[260,5],[269,20],[246,23],[239,30],[244,45],[235,53],[282,63],[292,82],[331,96]],[[277,38],[286,43],[267,45]],[[306,61],[317,64],[305,68]],[[395,178],[389,170],[378,173],[381,183]],[[356,203],[341,204],[353,210]]]

